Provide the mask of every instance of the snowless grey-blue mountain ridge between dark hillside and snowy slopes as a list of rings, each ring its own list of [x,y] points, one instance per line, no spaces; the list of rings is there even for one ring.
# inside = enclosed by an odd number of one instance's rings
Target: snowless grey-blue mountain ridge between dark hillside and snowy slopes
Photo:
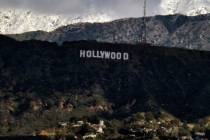
[[[147,17],[147,41],[153,45],[210,50],[210,15],[168,15]],[[28,32],[9,35],[17,40],[42,40],[62,44],[65,41],[97,40],[109,43],[141,42],[142,18],[106,23],[79,23],[52,32]]]

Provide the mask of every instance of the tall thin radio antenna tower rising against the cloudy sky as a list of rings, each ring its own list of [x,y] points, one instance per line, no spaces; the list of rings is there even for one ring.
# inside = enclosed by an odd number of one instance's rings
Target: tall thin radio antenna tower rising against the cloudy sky
[[[144,17],[143,17],[143,33],[142,33],[142,43],[147,43],[147,24],[146,24],[146,16],[147,16],[147,0],[144,0]]]

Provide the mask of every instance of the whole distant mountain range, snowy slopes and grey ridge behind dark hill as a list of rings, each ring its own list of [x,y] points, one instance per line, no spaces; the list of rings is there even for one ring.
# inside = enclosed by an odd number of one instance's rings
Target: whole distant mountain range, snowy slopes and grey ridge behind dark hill
[[[210,1],[162,0],[160,14],[147,17],[147,42],[155,46],[210,50]],[[157,7],[157,8],[158,8]],[[179,14],[177,14],[179,13]],[[62,44],[65,41],[141,42],[143,19],[111,21],[103,13],[81,17],[40,14],[30,10],[1,10],[0,34],[17,40],[42,40]],[[91,23],[90,23],[91,22]]]

